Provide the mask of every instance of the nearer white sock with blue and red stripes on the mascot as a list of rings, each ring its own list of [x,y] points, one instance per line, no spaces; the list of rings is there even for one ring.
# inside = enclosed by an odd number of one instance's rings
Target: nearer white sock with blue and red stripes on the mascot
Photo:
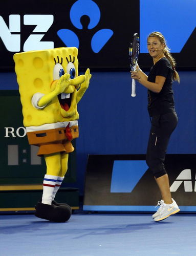
[[[42,204],[52,204],[52,194],[56,185],[57,176],[45,175],[43,179]]]

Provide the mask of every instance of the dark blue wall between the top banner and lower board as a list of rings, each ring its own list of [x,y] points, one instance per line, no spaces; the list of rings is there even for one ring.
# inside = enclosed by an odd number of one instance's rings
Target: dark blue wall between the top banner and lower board
[[[133,98],[128,71],[91,73],[89,89],[78,103],[77,182],[68,184],[81,195],[88,155],[145,154],[150,129],[146,88],[137,83]],[[195,154],[196,71],[179,75],[180,84],[173,84],[179,122],[167,153]],[[0,90],[18,90],[14,72],[0,73]]]

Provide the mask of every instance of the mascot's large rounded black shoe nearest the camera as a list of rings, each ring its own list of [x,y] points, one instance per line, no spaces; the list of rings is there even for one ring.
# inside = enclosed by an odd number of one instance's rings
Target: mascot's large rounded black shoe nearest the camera
[[[66,205],[36,204],[35,216],[52,222],[66,222],[71,217],[70,207]]]

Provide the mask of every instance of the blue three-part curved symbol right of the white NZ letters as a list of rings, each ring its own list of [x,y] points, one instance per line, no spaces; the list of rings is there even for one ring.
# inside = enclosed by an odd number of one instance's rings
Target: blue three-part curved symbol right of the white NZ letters
[[[78,0],[75,2],[70,10],[70,19],[75,28],[82,29],[80,19],[84,15],[90,18],[88,29],[95,28],[101,17],[98,5],[92,0]],[[101,29],[97,31],[91,40],[91,48],[93,52],[100,52],[113,34],[114,32],[111,29]],[[67,47],[75,46],[79,48],[79,38],[72,30],[60,29],[58,30],[57,35]]]

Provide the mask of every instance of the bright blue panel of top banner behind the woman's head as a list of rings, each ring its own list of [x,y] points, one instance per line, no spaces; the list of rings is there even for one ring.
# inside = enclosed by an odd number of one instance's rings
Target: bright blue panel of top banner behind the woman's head
[[[156,9],[161,12],[149,15],[154,4],[153,0],[140,0],[140,53],[148,52],[146,40],[153,31],[164,35],[172,53],[180,53],[195,29],[196,1],[189,0],[186,4],[184,0],[156,1]]]

